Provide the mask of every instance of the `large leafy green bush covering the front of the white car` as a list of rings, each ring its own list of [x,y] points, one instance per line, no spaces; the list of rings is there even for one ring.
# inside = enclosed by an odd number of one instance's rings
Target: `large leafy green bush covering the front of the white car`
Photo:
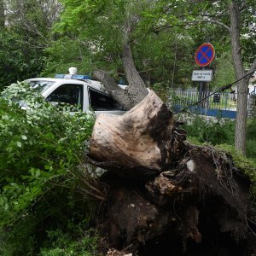
[[[12,84],[3,96],[0,221],[6,222],[6,213],[26,209],[43,193],[48,180],[67,175],[78,166],[93,118],[86,113],[58,111],[26,83]],[[26,110],[20,109],[20,99],[26,102]]]

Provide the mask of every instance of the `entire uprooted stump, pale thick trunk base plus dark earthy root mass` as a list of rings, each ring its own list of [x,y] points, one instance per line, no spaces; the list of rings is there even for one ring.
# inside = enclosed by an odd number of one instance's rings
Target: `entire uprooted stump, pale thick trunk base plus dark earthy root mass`
[[[247,177],[178,125],[153,91],[123,116],[96,119],[89,157],[108,170],[98,229],[133,255],[253,255]]]

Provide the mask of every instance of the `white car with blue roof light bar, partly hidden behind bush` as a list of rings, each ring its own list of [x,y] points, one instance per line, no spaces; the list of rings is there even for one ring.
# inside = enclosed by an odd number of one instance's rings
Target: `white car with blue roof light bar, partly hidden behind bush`
[[[125,113],[125,108],[103,90],[102,83],[91,80],[85,75],[57,74],[55,79],[27,79],[26,82],[53,104],[68,103],[84,112],[93,110],[96,115]],[[126,87],[125,85],[119,86],[122,89]]]

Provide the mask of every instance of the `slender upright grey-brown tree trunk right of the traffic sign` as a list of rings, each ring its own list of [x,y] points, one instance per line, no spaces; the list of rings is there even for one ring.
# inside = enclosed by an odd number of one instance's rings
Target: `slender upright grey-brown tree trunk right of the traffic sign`
[[[241,59],[240,45],[240,12],[234,1],[230,2],[230,37],[232,55],[236,71],[236,79],[241,79],[246,72]],[[247,79],[237,84],[236,108],[236,134],[235,147],[242,154],[246,153],[246,127],[247,127]]]

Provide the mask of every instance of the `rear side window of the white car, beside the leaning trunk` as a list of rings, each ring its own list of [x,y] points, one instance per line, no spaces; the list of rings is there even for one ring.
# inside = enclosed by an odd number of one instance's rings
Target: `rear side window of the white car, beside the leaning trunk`
[[[108,111],[108,110],[125,110],[118,102],[113,100],[111,96],[103,94],[97,90],[88,87],[90,108],[95,111]]]

